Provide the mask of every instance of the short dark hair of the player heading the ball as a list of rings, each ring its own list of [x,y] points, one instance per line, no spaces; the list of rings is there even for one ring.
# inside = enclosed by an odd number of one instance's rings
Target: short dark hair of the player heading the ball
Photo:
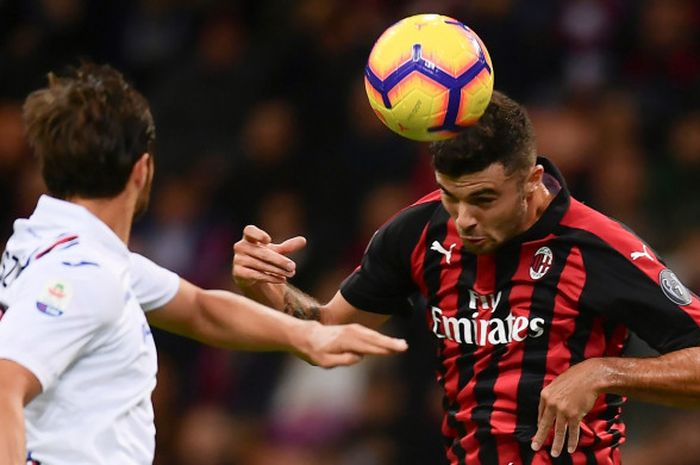
[[[494,91],[479,121],[456,137],[430,144],[433,166],[442,174],[459,177],[501,163],[508,175],[535,164],[537,151],[532,122],[525,109]]]

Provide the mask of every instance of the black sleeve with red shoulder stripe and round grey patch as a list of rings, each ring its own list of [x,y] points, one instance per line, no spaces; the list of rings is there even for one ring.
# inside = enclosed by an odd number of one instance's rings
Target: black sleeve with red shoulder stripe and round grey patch
[[[581,302],[624,324],[661,353],[700,345],[700,301],[641,241],[632,252],[584,251]]]

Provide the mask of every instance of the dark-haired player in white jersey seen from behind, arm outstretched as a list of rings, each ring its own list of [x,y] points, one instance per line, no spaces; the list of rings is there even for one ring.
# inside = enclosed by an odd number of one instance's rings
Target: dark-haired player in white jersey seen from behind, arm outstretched
[[[146,100],[115,70],[50,75],[24,117],[50,195],[15,222],[0,267],[0,465],[152,463],[149,325],[324,367],[405,349],[359,325],[303,322],[202,290],[131,253],[155,131]]]

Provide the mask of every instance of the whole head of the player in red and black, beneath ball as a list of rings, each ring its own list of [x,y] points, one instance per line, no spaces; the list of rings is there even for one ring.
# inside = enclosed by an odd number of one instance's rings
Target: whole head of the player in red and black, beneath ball
[[[442,202],[467,250],[490,253],[530,226],[543,170],[535,165],[532,123],[517,102],[494,92],[476,125],[430,151]]]

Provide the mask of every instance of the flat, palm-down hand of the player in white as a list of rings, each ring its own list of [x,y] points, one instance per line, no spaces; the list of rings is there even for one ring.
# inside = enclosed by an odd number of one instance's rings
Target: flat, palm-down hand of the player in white
[[[299,356],[323,368],[354,365],[364,355],[391,355],[403,352],[408,344],[359,324],[324,326],[306,322],[297,345]]]

